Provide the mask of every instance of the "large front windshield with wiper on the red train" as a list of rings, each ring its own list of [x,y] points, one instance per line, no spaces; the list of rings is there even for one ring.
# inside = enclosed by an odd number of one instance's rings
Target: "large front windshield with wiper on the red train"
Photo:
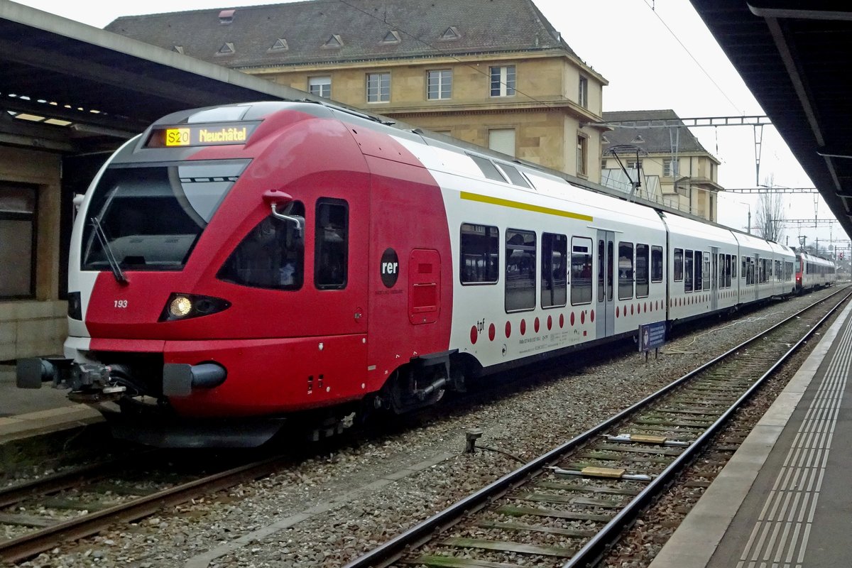
[[[124,269],[181,270],[248,164],[216,160],[108,168],[85,212],[81,268],[109,270],[113,256]]]

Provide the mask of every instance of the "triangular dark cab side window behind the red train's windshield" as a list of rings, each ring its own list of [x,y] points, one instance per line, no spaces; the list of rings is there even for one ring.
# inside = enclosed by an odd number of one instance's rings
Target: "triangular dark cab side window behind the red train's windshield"
[[[299,218],[304,227],[305,207],[292,201],[282,211]],[[269,215],[251,229],[237,245],[216,278],[255,288],[299,290],[305,267],[302,230],[293,221]]]

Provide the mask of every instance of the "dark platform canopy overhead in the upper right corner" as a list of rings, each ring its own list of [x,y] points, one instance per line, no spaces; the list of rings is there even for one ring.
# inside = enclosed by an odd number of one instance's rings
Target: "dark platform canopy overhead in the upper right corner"
[[[691,2],[852,236],[852,3]]]

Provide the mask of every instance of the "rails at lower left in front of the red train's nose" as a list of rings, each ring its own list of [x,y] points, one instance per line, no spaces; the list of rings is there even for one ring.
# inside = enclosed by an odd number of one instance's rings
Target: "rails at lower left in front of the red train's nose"
[[[64,542],[93,535],[118,522],[132,522],[158,511],[262,478],[291,458],[218,465],[198,473],[181,472],[174,454],[162,450],[68,468],[61,473],[0,490],[0,560],[32,558]]]

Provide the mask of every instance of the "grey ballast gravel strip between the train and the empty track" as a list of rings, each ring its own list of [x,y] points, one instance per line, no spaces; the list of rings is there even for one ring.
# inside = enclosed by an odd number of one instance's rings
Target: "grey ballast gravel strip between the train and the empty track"
[[[589,361],[576,353],[546,369],[365,435],[265,479],[54,548],[22,568],[318,568],[346,565],[535,456],[656,392],[826,291],[777,301],[679,332],[645,357],[628,347]],[[818,340],[817,340],[818,341]],[[465,433],[482,430],[466,453]],[[664,509],[665,510],[665,509]],[[672,511],[673,522],[682,514]],[[659,512],[658,512],[659,514]],[[640,521],[641,523],[642,521]],[[654,524],[665,525],[665,519]],[[642,525],[638,525],[642,526]],[[646,536],[659,549],[665,539]],[[653,541],[653,542],[649,542]],[[647,562],[653,559],[646,554]],[[642,564],[630,563],[638,568]]]

